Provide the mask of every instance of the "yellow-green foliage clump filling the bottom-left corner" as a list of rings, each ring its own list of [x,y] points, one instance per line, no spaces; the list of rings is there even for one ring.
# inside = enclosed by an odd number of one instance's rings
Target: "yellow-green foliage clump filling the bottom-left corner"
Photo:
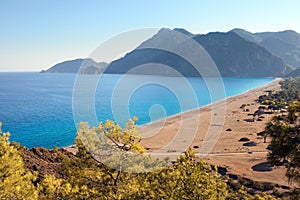
[[[0,132],[0,199],[37,199],[32,183],[35,176],[25,172],[18,150],[9,143],[9,135]]]

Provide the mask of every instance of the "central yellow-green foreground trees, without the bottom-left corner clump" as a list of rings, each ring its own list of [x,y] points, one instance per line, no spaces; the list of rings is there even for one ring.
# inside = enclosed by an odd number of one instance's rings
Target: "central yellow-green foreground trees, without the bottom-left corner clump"
[[[196,161],[191,149],[179,157],[175,165],[168,165],[155,171],[140,171],[143,173],[128,173],[96,162],[89,152],[97,152],[99,148],[97,145],[113,145],[123,151],[135,152],[135,155],[144,152],[134,122],[130,120],[123,130],[111,121],[105,124],[100,123],[96,128],[90,128],[88,124],[82,123],[76,138],[76,144],[79,147],[78,155],[65,159],[61,166],[62,173],[68,178],[56,180],[51,177],[46,182],[43,181],[40,188],[44,196],[77,198],[80,194],[76,188],[87,185],[89,190],[86,191],[86,195],[90,199],[222,200],[226,198],[228,193],[226,183],[204,161]],[[103,135],[106,136],[105,142],[100,140],[103,139]],[[86,147],[89,151],[86,151]],[[116,160],[115,155],[110,157],[111,162]],[[144,165],[161,164],[148,159],[139,161],[137,164],[133,162],[133,165],[140,167],[141,163]],[[68,183],[71,185],[66,188],[75,188],[75,192],[71,189],[68,192],[62,189]],[[56,185],[54,188],[57,190],[53,191],[51,184]]]

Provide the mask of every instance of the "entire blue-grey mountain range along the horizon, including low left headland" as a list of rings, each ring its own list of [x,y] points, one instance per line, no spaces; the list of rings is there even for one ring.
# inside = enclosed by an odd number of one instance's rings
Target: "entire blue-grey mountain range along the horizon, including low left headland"
[[[171,53],[181,51],[193,58],[201,57],[196,55],[192,45],[181,49],[182,40],[178,37],[178,32],[198,42],[212,57],[222,76],[284,76],[300,67],[300,35],[295,31],[251,33],[243,29],[233,29],[227,33],[212,32],[201,35],[182,28],[163,28],[109,65],[92,59],[76,59],[56,64],[43,72],[77,73],[82,65],[82,74],[104,72],[177,76],[180,73],[188,77],[200,76],[189,61]],[[174,51],[152,47],[168,47]],[[204,61],[201,64],[206,66]]]

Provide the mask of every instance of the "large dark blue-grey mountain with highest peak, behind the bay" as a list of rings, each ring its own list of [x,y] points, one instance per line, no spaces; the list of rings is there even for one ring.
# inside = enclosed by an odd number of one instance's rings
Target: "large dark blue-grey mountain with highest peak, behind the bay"
[[[281,58],[272,55],[265,48],[246,40],[232,31],[228,33],[214,32],[206,35],[194,35],[184,29],[176,30],[192,37],[204,47],[216,63],[222,76],[281,76],[291,71]],[[199,76],[199,73],[191,64],[180,56],[159,49],[143,49],[143,47],[159,47],[162,45],[176,49],[179,48],[180,41],[174,34],[174,31],[161,29],[137,49],[112,62],[107,67],[106,72],[127,73],[136,66],[147,63],[159,63],[172,66],[173,69],[184,76]],[[191,53],[193,50],[184,49],[182,51],[190,51]],[[149,66],[138,73],[159,75],[170,75],[171,73],[153,69]]]

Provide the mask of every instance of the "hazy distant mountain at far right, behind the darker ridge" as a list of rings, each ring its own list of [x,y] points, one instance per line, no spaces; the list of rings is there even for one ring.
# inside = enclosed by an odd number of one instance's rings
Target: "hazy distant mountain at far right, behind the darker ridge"
[[[286,30],[281,32],[250,33],[243,29],[233,29],[239,36],[265,47],[272,54],[295,68],[300,67],[300,34]]]

